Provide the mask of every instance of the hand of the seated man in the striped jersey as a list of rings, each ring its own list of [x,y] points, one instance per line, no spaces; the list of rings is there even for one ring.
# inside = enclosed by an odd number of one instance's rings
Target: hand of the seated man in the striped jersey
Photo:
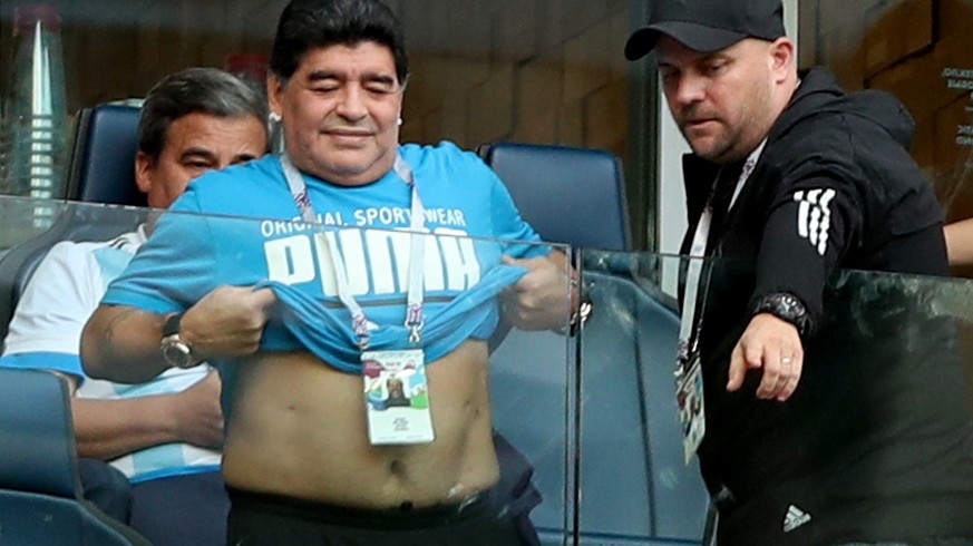
[[[181,441],[211,449],[223,447],[220,391],[220,373],[213,370],[188,389],[173,394],[176,435]]]

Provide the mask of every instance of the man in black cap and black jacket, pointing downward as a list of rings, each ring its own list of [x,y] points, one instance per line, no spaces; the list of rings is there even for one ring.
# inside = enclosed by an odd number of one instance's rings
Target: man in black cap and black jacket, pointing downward
[[[837,269],[948,273],[908,113],[798,72],[779,0],[656,1],[625,56],[650,51],[693,152],[683,251],[719,257],[687,281],[704,304],[681,340],[701,358],[719,544],[973,544],[952,330],[906,299],[868,301],[867,283],[824,290]]]

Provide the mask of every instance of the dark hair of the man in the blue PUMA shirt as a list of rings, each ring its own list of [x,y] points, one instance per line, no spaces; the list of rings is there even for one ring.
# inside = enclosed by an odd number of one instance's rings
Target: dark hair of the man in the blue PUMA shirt
[[[391,50],[396,76],[405,85],[409,76],[406,38],[396,14],[379,0],[291,0],[278,22],[270,69],[286,84],[309,50],[362,41]]]

